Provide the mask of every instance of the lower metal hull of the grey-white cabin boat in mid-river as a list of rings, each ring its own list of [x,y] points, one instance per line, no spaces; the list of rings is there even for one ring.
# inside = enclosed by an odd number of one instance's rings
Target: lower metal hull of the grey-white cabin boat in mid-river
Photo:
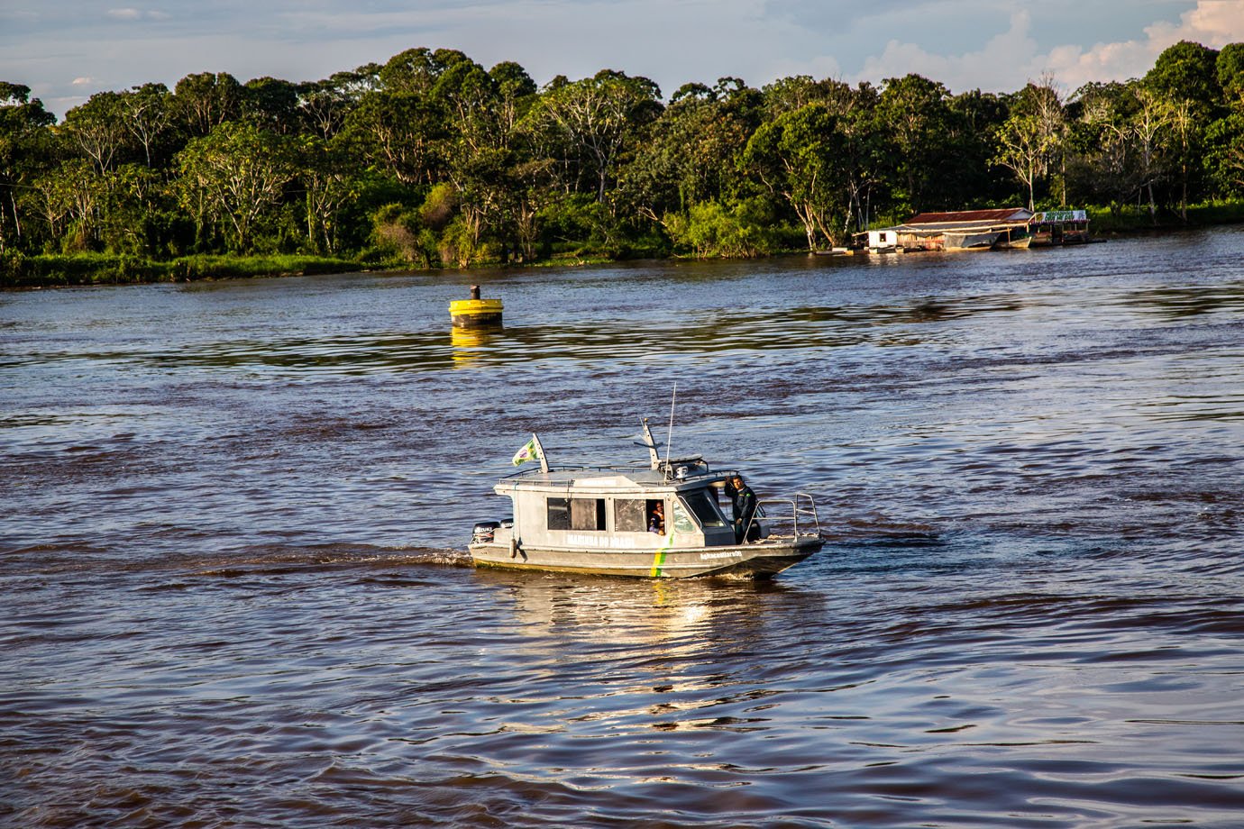
[[[770,578],[825,546],[820,536],[765,538],[730,547],[575,549],[508,544],[471,544],[476,567],[521,570],[628,575],[634,578]]]

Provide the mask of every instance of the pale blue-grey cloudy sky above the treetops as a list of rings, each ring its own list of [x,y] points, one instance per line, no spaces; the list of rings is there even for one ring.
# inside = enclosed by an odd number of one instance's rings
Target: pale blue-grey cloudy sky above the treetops
[[[0,81],[65,112],[195,72],[316,81],[403,50],[515,61],[540,85],[602,68],[761,87],[918,72],[952,92],[1066,92],[1144,75],[1163,48],[1244,41],[1244,0],[0,0]]]

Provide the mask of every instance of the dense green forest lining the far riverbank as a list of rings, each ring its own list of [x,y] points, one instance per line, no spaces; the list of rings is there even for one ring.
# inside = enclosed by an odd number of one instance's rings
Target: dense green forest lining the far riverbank
[[[1244,215],[1244,44],[1142,78],[952,94],[919,75],[761,88],[411,48],[321,81],[188,75],[61,121],[0,82],[0,286],[842,245],[922,210]],[[1230,210],[1228,210],[1230,215]]]

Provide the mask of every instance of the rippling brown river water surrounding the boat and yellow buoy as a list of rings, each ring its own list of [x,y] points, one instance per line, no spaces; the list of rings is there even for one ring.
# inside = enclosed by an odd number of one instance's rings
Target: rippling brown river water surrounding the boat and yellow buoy
[[[469,566],[675,383],[821,553]],[[0,295],[0,825],[1240,827],[1242,482],[1244,227]]]

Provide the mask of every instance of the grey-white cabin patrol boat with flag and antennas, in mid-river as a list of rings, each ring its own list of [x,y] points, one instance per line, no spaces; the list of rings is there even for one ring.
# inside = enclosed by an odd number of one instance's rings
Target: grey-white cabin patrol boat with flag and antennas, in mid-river
[[[475,524],[475,564],[646,578],[768,578],[825,544],[816,505],[804,492],[760,501],[748,526],[739,526],[739,536],[754,541],[740,543],[719,503],[720,495],[733,492],[729,481],[738,472],[712,470],[698,456],[669,460],[667,454],[662,460],[647,420],[643,437],[647,467],[552,470],[532,435],[515,462],[534,459],[540,469],[494,487],[513,501],[514,517]],[[729,498],[725,503],[733,511]]]

